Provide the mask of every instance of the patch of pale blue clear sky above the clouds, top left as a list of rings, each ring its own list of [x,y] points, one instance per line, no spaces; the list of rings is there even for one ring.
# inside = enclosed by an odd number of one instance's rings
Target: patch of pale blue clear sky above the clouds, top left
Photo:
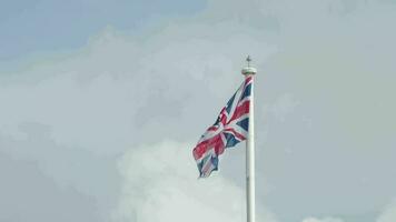
[[[0,60],[78,49],[107,26],[139,33],[161,19],[201,10],[204,0],[1,1]]]

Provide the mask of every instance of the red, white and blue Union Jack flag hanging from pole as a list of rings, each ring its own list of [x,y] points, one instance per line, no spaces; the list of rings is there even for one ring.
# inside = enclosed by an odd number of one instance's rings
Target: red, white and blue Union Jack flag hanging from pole
[[[199,139],[192,155],[200,178],[207,178],[218,170],[218,157],[225,149],[246,140],[249,129],[249,103],[253,77],[246,77],[242,84],[224,107],[214,125]]]

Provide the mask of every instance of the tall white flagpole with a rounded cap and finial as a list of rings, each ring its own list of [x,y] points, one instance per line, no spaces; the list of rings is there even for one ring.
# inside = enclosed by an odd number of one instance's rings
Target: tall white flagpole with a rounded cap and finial
[[[246,140],[246,213],[247,222],[256,222],[255,198],[255,74],[257,70],[250,67],[250,57],[246,59],[248,65],[242,69],[245,77],[251,77],[249,102],[249,130]]]

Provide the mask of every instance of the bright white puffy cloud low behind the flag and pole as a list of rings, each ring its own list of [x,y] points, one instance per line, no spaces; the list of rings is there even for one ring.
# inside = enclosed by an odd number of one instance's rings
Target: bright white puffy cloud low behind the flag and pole
[[[245,191],[215,173],[197,179],[191,143],[165,141],[131,149],[119,162],[123,175],[119,221],[244,221]],[[275,222],[258,203],[258,221]]]

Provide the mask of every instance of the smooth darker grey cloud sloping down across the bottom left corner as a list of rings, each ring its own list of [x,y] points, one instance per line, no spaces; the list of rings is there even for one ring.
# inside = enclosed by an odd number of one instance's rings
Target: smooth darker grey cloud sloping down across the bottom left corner
[[[103,221],[95,198],[59,186],[38,161],[16,159],[0,150],[0,221]]]

